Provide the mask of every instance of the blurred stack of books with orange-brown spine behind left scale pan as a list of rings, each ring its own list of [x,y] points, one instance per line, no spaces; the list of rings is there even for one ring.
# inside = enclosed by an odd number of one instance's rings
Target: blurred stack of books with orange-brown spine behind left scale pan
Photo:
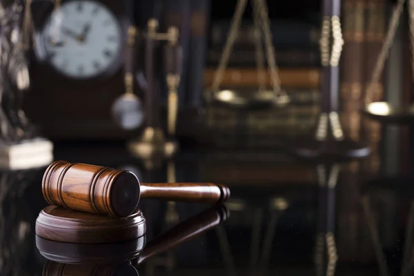
[[[204,71],[206,90],[213,83],[229,28],[230,19],[211,23]],[[215,144],[226,147],[276,146],[275,136],[303,135],[313,130],[319,114],[321,82],[319,30],[319,23],[271,21],[280,83],[290,96],[291,103],[286,108],[262,109],[237,109],[210,103],[207,124],[214,133]],[[265,54],[264,46],[262,50]],[[253,21],[242,21],[220,89],[251,88],[252,93],[257,92],[256,51]],[[266,88],[272,88],[268,70],[265,84]]]

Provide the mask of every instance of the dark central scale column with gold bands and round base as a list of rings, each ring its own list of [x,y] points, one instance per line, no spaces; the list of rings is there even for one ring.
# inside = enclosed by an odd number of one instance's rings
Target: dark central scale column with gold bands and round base
[[[324,0],[322,38],[322,113],[314,137],[290,139],[294,155],[306,159],[353,159],[370,155],[366,144],[346,139],[339,121],[339,58],[342,52],[340,0]]]

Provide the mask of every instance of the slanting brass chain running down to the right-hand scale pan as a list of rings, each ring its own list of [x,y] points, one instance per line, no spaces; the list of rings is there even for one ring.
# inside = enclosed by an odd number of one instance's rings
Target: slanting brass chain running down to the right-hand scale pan
[[[411,0],[410,0],[411,1]],[[382,43],[382,48],[380,50],[380,55],[377,57],[375,62],[374,70],[371,75],[371,80],[368,83],[365,93],[365,102],[366,104],[374,101],[373,94],[374,90],[377,87],[377,83],[380,81],[380,77],[384,70],[385,61],[388,58],[389,50],[393,45],[395,32],[397,32],[398,24],[400,23],[401,14],[404,10],[404,3],[406,0],[398,0],[397,6],[393,10],[393,14],[388,24],[388,30],[386,32],[386,37]]]

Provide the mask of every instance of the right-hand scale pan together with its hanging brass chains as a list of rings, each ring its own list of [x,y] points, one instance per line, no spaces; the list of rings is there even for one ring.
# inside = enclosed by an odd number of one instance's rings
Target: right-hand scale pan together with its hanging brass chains
[[[377,62],[373,70],[370,85],[366,90],[366,106],[364,108],[364,115],[367,117],[380,121],[383,124],[400,124],[409,125],[414,124],[414,105],[410,106],[393,106],[386,101],[374,101],[375,90],[378,88],[376,83],[380,82],[380,76],[384,69],[384,63],[388,57],[388,52],[393,44],[395,32],[397,31],[398,24],[400,23],[401,14],[404,11],[404,3],[406,0],[398,0],[391,16],[390,23],[388,25],[388,31],[384,39],[384,43],[381,48],[380,55],[377,57]],[[414,48],[414,2],[408,1],[409,8],[409,25],[410,25],[410,40],[411,40],[411,52]],[[411,61],[411,69],[414,69],[414,60]],[[414,71],[413,71],[414,74]]]

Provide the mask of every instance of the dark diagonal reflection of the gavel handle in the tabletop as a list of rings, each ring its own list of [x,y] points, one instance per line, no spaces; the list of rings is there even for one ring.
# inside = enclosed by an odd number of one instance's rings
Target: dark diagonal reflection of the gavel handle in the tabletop
[[[224,205],[209,208],[148,242],[141,255],[132,260],[132,265],[137,266],[153,255],[177,246],[181,242],[186,242],[204,231],[217,226],[228,217],[228,208]]]

